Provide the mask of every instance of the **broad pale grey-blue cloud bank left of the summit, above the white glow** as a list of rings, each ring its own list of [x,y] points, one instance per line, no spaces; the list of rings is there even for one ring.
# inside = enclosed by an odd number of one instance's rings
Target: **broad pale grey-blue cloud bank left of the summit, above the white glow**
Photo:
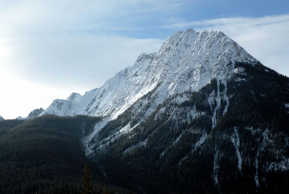
[[[59,84],[69,81],[101,86],[125,66],[133,65],[142,52],[156,52],[162,40],[112,35],[60,34],[2,41],[4,67],[31,81]],[[5,57],[5,58],[4,58]]]

